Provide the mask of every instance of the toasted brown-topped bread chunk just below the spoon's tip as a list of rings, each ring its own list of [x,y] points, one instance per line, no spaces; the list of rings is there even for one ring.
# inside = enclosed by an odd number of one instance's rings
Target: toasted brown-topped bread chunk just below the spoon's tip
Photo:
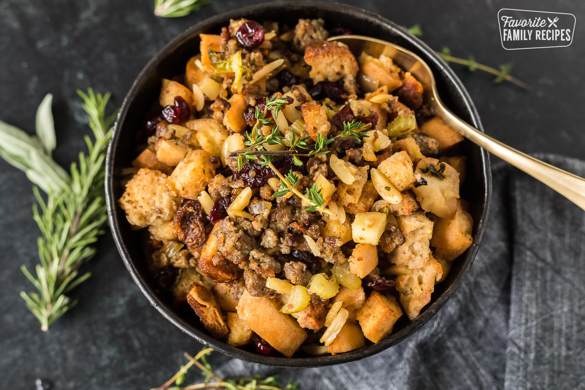
[[[305,62],[311,65],[309,77],[319,81],[338,81],[346,77],[354,79],[358,66],[356,57],[341,42],[315,42],[305,47]]]

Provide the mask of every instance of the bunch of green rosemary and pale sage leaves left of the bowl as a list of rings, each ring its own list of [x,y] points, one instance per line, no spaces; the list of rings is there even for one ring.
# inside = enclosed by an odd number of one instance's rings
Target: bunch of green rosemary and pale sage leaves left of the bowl
[[[37,240],[40,264],[35,267],[36,276],[24,265],[21,269],[39,293],[20,295],[43,331],[49,330],[56,319],[77,303],[68,295],[90,276],[89,272],[80,275],[78,268],[94,256],[91,244],[103,233],[107,219],[104,159],[115,116],[105,115],[109,93],[102,96],[91,89],[87,94],[77,93],[84,100],[94,140],[85,136],[88,154],[79,154],[79,162],[71,164],[69,174],[51,158],[55,147],[51,95],[39,106],[37,137],[0,122],[0,156],[25,171],[35,184],[33,192],[38,205],[33,206],[33,217],[42,233]]]

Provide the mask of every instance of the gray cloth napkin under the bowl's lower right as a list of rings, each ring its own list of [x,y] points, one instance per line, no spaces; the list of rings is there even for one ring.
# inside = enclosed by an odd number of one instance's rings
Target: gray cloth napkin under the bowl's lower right
[[[539,156],[584,176],[585,161]],[[309,389],[574,389],[585,386],[585,212],[503,163],[488,228],[455,295],[383,353],[324,368],[226,358],[230,376],[280,375]]]

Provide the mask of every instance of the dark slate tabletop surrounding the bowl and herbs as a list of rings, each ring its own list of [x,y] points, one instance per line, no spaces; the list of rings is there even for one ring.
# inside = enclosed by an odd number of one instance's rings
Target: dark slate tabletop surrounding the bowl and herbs
[[[118,106],[132,80],[165,43],[187,27],[259,1],[214,0],[180,19],[156,18],[152,0],[3,0],[0,4],[0,118],[33,132],[37,105],[54,94],[59,163],[84,149],[86,118],[75,89],[111,91]],[[349,2],[348,2],[349,3]],[[352,4],[356,4],[352,2]],[[505,51],[497,12],[521,1],[427,2],[362,0],[360,6],[405,26],[420,23],[423,39],[455,56],[489,65],[512,62],[512,74],[534,87],[493,85],[490,75],[453,65],[488,134],[527,153],[585,157],[585,3],[529,2],[530,9],[576,15],[573,44]],[[495,159],[494,159],[495,160]],[[33,389],[50,378],[61,389],[149,389],[196,353],[197,341],[152,308],[122,264],[109,232],[84,269],[92,277],[75,291],[80,304],[43,333],[19,297],[30,291],[20,264],[37,263],[34,202],[22,172],[0,161],[0,387]],[[425,326],[432,326],[432,321]],[[375,359],[376,357],[371,357]],[[216,354],[216,361],[223,360]]]

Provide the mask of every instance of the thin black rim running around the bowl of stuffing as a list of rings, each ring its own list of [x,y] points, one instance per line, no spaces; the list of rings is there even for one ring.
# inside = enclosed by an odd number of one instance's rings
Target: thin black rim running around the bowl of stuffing
[[[122,257],[126,268],[130,272],[132,279],[135,281],[136,285],[139,287],[140,291],[146,296],[149,300],[150,304],[156,308],[161,315],[163,315],[169,322],[173,323],[179,329],[181,329],[184,333],[189,334],[195,340],[199,341],[199,343],[204,344],[205,346],[214,348],[216,351],[220,351],[221,353],[233,357],[238,358],[240,360],[244,360],[250,363],[256,364],[263,364],[263,365],[270,365],[274,367],[321,367],[325,365],[333,365],[333,364],[340,364],[340,363],[348,363],[350,361],[357,361],[361,360],[366,357],[373,356],[374,354],[380,353],[395,344],[400,343],[400,341],[404,340],[406,337],[410,336],[412,333],[416,332],[424,323],[426,323],[435,313],[451,298],[451,296],[455,293],[456,289],[462,283],[464,277],[466,276],[469,268],[471,267],[473,260],[477,254],[477,251],[480,247],[481,240],[483,238],[487,218],[490,212],[491,206],[491,170],[490,170],[490,159],[487,152],[484,149],[480,149],[480,161],[481,161],[481,170],[483,172],[484,177],[484,184],[485,184],[485,191],[483,194],[483,210],[481,212],[481,216],[479,221],[477,222],[477,231],[474,235],[474,240],[472,246],[467,249],[466,256],[461,260],[464,261],[464,264],[459,272],[459,275],[453,280],[452,284],[435,300],[435,302],[431,303],[425,311],[417,317],[413,322],[411,322],[408,326],[404,329],[401,329],[397,333],[392,334],[387,339],[382,341],[378,341],[378,343],[374,343],[371,346],[359,348],[355,351],[350,351],[343,354],[337,354],[333,356],[316,356],[316,357],[302,357],[302,358],[295,358],[295,357],[267,357],[261,356],[260,354],[255,354],[249,351],[245,351],[236,347],[229,346],[227,343],[223,341],[216,340],[212,336],[207,333],[202,332],[201,330],[196,329],[190,323],[185,321],[181,318],[174,310],[168,306],[163,300],[161,300],[152,288],[150,288],[149,283],[145,278],[140,275],[140,272],[135,267],[135,264],[130,257],[128,247],[126,247],[125,242],[123,241],[121,232],[119,230],[119,224],[121,223],[120,219],[118,218],[118,212],[116,212],[116,207],[118,202],[116,199],[113,198],[114,196],[114,167],[113,161],[115,160],[115,146],[119,142],[119,137],[121,134],[122,123],[125,122],[126,115],[128,113],[128,109],[130,103],[132,103],[133,99],[135,98],[137,92],[140,91],[140,87],[144,78],[156,68],[157,64],[160,61],[168,56],[168,54],[172,53],[176,47],[180,46],[181,43],[188,37],[192,36],[195,32],[200,29],[207,27],[210,24],[221,22],[222,20],[229,20],[230,18],[238,18],[238,16],[242,15],[243,13],[250,13],[255,11],[256,9],[286,9],[286,8],[317,8],[322,11],[340,11],[338,3],[335,2],[322,2],[322,1],[314,1],[314,2],[303,2],[303,1],[278,1],[278,2],[269,2],[264,4],[257,4],[246,6],[243,8],[233,9],[228,12],[223,12],[221,14],[212,16],[211,18],[207,18],[202,20],[201,22],[196,23],[195,25],[189,27],[183,33],[178,34],[174,37],[170,42],[168,42],[162,49],[160,49],[157,54],[155,54],[146,65],[142,68],[140,73],[137,75],[135,80],[132,83],[128,93],[126,94],[125,98],[123,99],[121,108],[119,109],[118,116],[116,117],[116,122],[113,126],[113,133],[112,138],[110,140],[108,146],[108,152],[106,155],[106,165],[105,165],[105,193],[106,193],[106,205],[108,208],[108,219],[109,225],[111,226],[111,232],[113,239],[116,243],[116,247]],[[417,53],[424,53],[428,61],[432,61],[441,71],[445,73],[445,75],[449,78],[450,82],[453,83],[454,87],[456,88],[456,94],[462,98],[462,102],[465,106],[467,112],[471,113],[472,116],[472,125],[476,126],[481,132],[484,132],[483,127],[481,126],[479,113],[472,102],[469,94],[467,93],[466,89],[463,87],[462,82],[459,78],[455,75],[453,70],[443,61],[430,47],[428,47],[422,40],[418,39],[412,34],[408,33],[408,31],[400,26],[397,23],[392,22],[386,18],[383,18],[376,13],[371,11],[367,11],[366,9],[362,9],[356,6],[343,4],[343,11],[344,13],[350,15],[359,15],[362,18],[376,20],[380,25],[383,25],[384,28],[388,30],[393,30],[394,33],[400,35],[403,39],[408,40],[415,49],[413,51]],[[412,49],[411,49],[412,50]],[[124,219],[123,222],[126,222]]]

